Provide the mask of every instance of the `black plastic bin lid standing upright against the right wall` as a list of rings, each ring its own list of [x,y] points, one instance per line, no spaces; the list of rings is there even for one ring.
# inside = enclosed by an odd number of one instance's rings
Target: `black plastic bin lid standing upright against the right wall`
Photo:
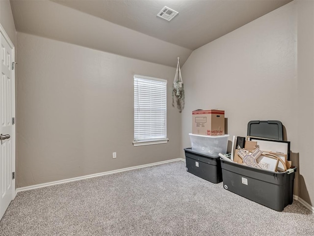
[[[283,140],[283,124],[279,120],[251,120],[247,124],[247,135]]]

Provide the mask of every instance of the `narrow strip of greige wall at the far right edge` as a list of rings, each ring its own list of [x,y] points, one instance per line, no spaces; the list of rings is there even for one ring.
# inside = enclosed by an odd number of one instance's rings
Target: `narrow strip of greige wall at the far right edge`
[[[298,195],[314,207],[314,1],[296,1],[297,110],[295,114],[299,159]]]

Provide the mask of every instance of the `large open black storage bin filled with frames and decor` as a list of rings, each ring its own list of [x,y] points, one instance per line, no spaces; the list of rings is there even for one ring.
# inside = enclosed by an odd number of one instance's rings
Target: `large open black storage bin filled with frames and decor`
[[[277,211],[292,204],[296,167],[280,173],[220,160],[225,189]]]

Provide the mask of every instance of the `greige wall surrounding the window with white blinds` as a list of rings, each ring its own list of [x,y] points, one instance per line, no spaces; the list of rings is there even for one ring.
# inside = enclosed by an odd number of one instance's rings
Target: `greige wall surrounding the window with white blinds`
[[[17,54],[18,187],[180,157],[175,68],[20,32]],[[134,74],[168,80],[167,144],[132,145]]]

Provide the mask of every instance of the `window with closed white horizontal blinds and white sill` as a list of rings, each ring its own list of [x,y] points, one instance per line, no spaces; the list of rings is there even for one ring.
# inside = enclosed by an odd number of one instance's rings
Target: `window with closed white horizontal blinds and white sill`
[[[134,75],[133,145],[167,142],[167,81]]]

